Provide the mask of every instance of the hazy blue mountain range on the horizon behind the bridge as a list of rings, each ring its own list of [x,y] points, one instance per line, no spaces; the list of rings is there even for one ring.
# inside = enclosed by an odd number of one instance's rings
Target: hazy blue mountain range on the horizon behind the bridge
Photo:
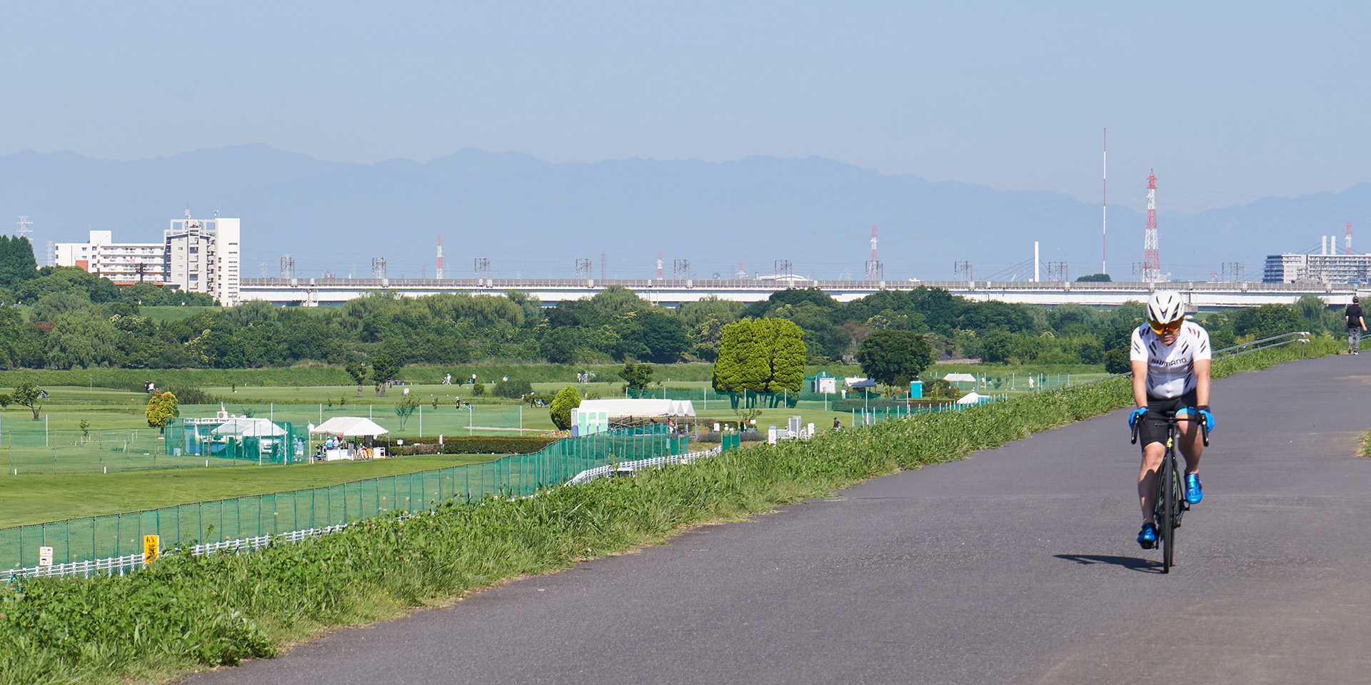
[[[248,277],[277,275],[284,255],[302,277],[369,275],[376,256],[391,277],[432,277],[439,234],[447,277],[469,277],[473,259],[484,258],[496,277],[570,278],[576,259],[591,259],[595,278],[602,262],[610,278],[648,278],[661,251],[668,278],[677,259],[690,260],[696,278],[728,277],[739,263],[769,274],[777,260],[813,278],[862,278],[871,226],[887,279],[949,279],[964,260],[978,279],[1031,278],[1035,240],[1042,260],[1065,262],[1071,278],[1100,271],[1101,260],[1098,204],[823,158],[550,163],[463,149],[428,163],[352,164],[266,145],[133,162],[0,156],[0,230],[29,215],[40,264],[49,240],[110,229],[117,241],[152,242],[185,210],[208,216],[217,208],[243,219]],[[1163,212],[1163,270],[1208,278],[1238,262],[1260,278],[1265,255],[1341,237],[1357,218],[1371,229],[1371,184],[1190,216]],[[1141,214],[1109,207],[1116,279],[1142,259],[1142,233]]]

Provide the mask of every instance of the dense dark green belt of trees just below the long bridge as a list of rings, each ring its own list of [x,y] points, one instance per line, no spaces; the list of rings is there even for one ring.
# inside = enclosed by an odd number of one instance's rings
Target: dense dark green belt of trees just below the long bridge
[[[121,289],[80,269],[33,269],[27,240],[0,237],[0,303],[14,301],[32,308],[0,307],[0,367],[244,369],[317,360],[367,366],[358,385],[380,382],[374,362],[383,353],[399,366],[721,360],[727,370],[733,362],[721,359],[725,330],[740,321],[795,326],[810,363],[856,362],[869,336],[890,330],[923,336],[941,358],[1098,364],[1127,347],[1143,318],[1141,303],[1049,310],[969,301],[935,288],[883,290],[850,303],[790,289],[753,304],[709,299],[669,308],[610,286],[550,308],[517,292],[415,299],[373,292],[341,307],[252,301],[166,321],[165,312],[155,318],[143,308],[213,301],[148,284]],[[1331,330],[1338,314],[1307,296],[1294,307],[1211,315],[1205,325],[1215,345],[1226,347],[1279,327]]]

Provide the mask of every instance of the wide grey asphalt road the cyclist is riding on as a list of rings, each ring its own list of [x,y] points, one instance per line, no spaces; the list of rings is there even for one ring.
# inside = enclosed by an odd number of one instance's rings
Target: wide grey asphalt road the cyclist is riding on
[[[1368,399],[1360,356],[1217,381],[1169,575],[1117,411],[188,681],[1367,682]]]

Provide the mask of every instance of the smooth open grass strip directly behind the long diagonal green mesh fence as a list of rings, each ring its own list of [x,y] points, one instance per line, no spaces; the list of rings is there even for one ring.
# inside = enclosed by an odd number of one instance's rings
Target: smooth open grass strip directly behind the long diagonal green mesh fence
[[[121,514],[269,492],[325,488],[384,475],[485,463],[505,455],[410,455],[374,462],[233,466],[0,478],[0,527]]]

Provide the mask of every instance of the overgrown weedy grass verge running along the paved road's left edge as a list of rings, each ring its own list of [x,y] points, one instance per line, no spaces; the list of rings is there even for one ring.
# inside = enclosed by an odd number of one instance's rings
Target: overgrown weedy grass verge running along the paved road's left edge
[[[1337,341],[1309,355],[1333,353]],[[1256,352],[1215,375],[1298,358]],[[328,626],[400,615],[505,578],[661,541],[681,526],[1001,447],[1130,401],[1127,379],[1043,392],[962,412],[727,452],[694,466],[557,488],[513,501],[373,519],[259,553],[175,556],[128,578],[26,581],[0,595],[0,682],[162,680],[270,656]],[[1120,427],[1120,436],[1123,436]],[[1120,437],[1121,440],[1121,437]]]

